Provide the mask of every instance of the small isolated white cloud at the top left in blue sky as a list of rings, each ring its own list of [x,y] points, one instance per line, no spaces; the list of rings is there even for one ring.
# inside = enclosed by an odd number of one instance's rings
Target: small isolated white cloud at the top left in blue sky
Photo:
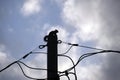
[[[41,11],[41,0],[25,0],[21,12],[25,16],[39,13]]]

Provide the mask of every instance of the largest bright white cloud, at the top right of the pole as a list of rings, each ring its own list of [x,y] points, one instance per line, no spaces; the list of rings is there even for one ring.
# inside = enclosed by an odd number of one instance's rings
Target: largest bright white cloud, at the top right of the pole
[[[83,41],[98,37],[100,29],[98,5],[99,0],[67,0],[64,3],[63,20],[76,29]]]

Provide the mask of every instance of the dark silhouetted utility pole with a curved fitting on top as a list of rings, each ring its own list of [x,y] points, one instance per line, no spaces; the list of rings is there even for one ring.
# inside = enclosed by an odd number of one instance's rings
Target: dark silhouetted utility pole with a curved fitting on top
[[[58,76],[58,57],[57,57],[57,38],[58,31],[51,31],[48,36],[44,38],[47,41],[47,80],[59,80]]]

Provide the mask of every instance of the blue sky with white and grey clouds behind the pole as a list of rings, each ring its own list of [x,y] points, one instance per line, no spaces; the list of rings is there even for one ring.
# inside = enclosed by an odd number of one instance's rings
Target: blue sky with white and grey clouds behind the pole
[[[119,14],[119,0],[0,0],[0,69],[38,45],[46,44],[44,36],[54,29],[59,30],[58,38],[62,41],[120,50]],[[59,44],[58,48],[60,54],[69,46]],[[73,47],[67,55],[76,62],[85,52],[91,50]],[[76,67],[78,80],[120,80],[119,61],[119,54],[86,58]],[[46,55],[31,55],[24,62],[33,67],[46,68]],[[69,60],[59,58],[60,71],[70,66]],[[32,77],[46,78],[46,71],[26,67],[24,70]],[[70,78],[74,80],[73,76]],[[27,78],[18,65],[13,65],[0,73],[0,80]],[[61,80],[67,78],[62,77]]]

